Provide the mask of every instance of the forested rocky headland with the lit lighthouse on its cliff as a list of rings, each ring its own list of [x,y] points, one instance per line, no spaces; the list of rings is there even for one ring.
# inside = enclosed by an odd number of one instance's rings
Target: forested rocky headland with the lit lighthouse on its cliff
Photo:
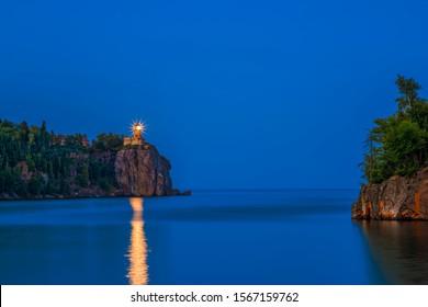
[[[171,164],[143,138],[48,133],[0,120],[0,200],[189,195],[172,189]]]

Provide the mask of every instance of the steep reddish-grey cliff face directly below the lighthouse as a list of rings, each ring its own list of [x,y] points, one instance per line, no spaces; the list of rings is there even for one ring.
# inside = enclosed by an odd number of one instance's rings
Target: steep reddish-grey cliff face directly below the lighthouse
[[[172,195],[171,164],[153,146],[122,149],[114,161],[114,174],[123,195]]]

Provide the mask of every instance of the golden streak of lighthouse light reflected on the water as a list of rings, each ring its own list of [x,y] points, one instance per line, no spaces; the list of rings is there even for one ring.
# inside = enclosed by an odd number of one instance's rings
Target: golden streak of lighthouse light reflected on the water
[[[126,254],[129,259],[126,277],[131,285],[147,285],[147,242],[144,234],[143,198],[131,197],[129,204],[133,207],[134,216],[131,220],[129,248],[128,254]]]

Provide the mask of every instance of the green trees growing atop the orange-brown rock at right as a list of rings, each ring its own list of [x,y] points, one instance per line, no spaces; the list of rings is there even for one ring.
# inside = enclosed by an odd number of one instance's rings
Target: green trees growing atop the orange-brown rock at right
[[[421,87],[412,78],[397,76],[401,94],[397,112],[386,118],[374,120],[375,126],[367,140],[363,178],[380,183],[392,175],[412,177],[427,166],[428,103],[420,98]]]

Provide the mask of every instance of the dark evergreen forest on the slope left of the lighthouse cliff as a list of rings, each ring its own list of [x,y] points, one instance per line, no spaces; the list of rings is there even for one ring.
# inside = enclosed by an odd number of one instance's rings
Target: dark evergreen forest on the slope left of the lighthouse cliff
[[[122,148],[123,135],[60,135],[42,126],[0,120],[0,194],[70,193],[89,186],[109,191],[115,186],[112,161],[100,152]],[[108,156],[109,157],[109,156]]]

